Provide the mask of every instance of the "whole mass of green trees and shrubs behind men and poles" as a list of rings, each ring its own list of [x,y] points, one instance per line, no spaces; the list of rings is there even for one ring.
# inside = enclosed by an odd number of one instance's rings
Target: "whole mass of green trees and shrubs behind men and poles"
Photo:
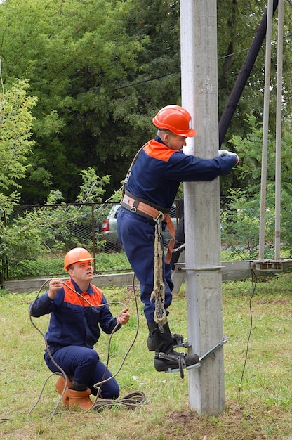
[[[218,2],[218,119],[266,3]],[[65,209],[65,202],[101,202],[114,193],[113,200],[119,200],[133,156],[154,135],[153,115],[164,105],[180,104],[179,6],[178,0],[0,3],[1,258],[34,259],[48,248],[64,249],[72,228],[63,219],[78,217],[82,224],[88,215],[78,207]],[[281,142],[281,239],[290,247],[291,6],[291,0],[284,3]],[[277,11],[272,34],[269,243],[274,233]],[[248,243],[251,257],[258,242],[264,80],[263,44],[223,145],[239,154],[239,166],[220,179],[221,195],[230,197],[224,241],[235,247]],[[61,206],[53,211],[56,202]],[[44,208],[19,218],[13,208],[20,203]]]

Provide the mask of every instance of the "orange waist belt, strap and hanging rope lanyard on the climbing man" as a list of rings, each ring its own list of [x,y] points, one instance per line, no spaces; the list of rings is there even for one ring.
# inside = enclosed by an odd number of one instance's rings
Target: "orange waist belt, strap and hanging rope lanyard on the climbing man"
[[[147,143],[145,144],[147,145]],[[166,254],[165,262],[169,263],[171,261],[171,253],[173,251],[175,243],[175,227],[171,221],[171,216],[168,214],[168,209],[155,205],[148,200],[144,200],[136,197],[126,190],[126,182],[131,175],[131,169],[133,164],[137,160],[138,155],[145,145],[140,148],[138,153],[135,155],[131,167],[128,169],[126,178],[124,180],[124,186],[122,190],[123,199],[121,200],[121,206],[128,211],[138,214],[146,219],[150,219],[155,222],[155,235],[154,235],[154,288],[150,296],[150,299],[154,299],[155,309],[154,309],[154,321],[159,325],[162,331],[163,325],[166,324],[166,311],[164,309],[165,300],[165,285],[163,278],[163,239],[162,239],[162,221],[166,221],[166,226],[169,233],[171,233],[171,241],[168,243],[168,251]]]

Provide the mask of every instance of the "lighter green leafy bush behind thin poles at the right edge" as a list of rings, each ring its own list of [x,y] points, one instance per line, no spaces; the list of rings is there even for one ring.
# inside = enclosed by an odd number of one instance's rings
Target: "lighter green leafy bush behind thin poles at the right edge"
[[[239,153],[241,160],[237,166],[241,188],[230,190],[230,212],[223,228],[223,240],[228,245],[239,241],[248,243],[250,258],[255,258],[258,245],[260,219],[261,155],[263,129],[254,116],[246,121],[250,133],[246,137],[232,136],[232,150]],[[265,239],[271,245],[274,242],[275,221],[275,140],[272,134],[268,139],[267,150],[267,200],[265,214]],[[290,249],[291,256],[291,198],[292,198],[292,138],[286,134],[281,142],[281,243]],[[248,238],[248,240],[247,240]],[[271,257],[271,254],[270,254]]]

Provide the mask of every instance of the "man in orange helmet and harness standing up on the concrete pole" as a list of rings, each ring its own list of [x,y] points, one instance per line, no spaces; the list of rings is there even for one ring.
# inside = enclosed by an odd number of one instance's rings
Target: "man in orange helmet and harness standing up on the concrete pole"
[[[167,321],[173,290],[171,252],[165,257],[162,231],[167,225],[173,247],[174,228],[168,212],[180,182],[211,181],[229,173],[239,158],[229,151],[219,152],[213,159],[185,155],[186,138],[195,136],[196,131],[190,113],[179,105],[161,108],[152,122],[157,136],[140,148],[125,178],[117,231],[140,282],[152,342],[148,347],[155,351],[154,368],[182,370],[198,363],[199,356],[173,349],[176,338]]]

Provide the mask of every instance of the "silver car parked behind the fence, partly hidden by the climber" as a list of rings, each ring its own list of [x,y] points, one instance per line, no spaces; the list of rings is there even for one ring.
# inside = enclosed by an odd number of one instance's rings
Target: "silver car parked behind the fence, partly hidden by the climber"
[[[107,218],[104,221],[102,221],[102,231],[100,234],[100,240],[106,241],[105,248],[107,250],[115,250],[117,252],[120,252],[122,248],[121,242],[119,241],[117,234],[117,215],[119,213],[120,207],[121,205],[112,206]],[[176,215],[175,205],[172,205],[169,214],[171,216],[171,220],[173,221],[173,225],[176,229],[176,226],[178,225],[178,219]],[[171,240],[171,234],[169,233],[168,229],[164,231],[164,239],[166,245]]]

